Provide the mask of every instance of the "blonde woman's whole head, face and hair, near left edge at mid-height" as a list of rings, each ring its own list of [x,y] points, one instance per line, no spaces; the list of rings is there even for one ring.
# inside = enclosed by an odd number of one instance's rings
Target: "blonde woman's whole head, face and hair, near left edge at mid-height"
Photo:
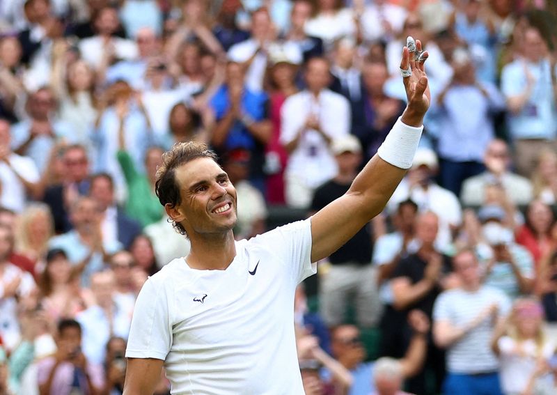
[[[54,219],[45,203],[32,203],[19,215],[16,250],[37,263],[45,256],[48,241],[54,235]]]

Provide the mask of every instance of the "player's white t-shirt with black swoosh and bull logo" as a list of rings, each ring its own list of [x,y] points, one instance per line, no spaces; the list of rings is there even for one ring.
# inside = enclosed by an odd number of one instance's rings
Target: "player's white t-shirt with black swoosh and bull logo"
[[[304,394],[293,306],[317,271],[310,221],[236,242],[226,270],[168,263],[139,293],[126,357],[164,359],[172,394]]]

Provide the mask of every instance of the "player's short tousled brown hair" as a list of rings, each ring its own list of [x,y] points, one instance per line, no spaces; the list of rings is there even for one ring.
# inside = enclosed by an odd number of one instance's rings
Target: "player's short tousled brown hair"
[[[180,185],[176,180],[175,169],[198,157],[207,157],[217,162],[217,154],[209,150],[205,144],[188,141],[177,143],[162,155],[162,164],[157,169],[155,182],[155,193],[162,206],[167,204],[174,208],[182,202],[180,198]],[[172,221],[175,231],[180,235],[186,235],[182,224]]]

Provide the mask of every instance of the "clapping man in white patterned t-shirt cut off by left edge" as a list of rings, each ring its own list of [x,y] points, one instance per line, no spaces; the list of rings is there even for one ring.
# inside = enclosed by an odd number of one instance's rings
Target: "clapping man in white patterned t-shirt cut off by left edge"
[[[31,274],[8,261],[13,243],[12,230],[0,226],[0,338],[8,352],[17,346],[21,336],[17,319],[18,300],[29,297],[35,288]]]

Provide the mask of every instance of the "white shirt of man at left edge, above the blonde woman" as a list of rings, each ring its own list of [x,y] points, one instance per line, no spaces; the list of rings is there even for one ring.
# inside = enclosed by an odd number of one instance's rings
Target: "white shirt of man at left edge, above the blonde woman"
[[[29,183],[38,182],[40,174],[30,157],[13,153],[9,161],[9,166],[5,162],[0,162],[0,204],[15,212],[21,212],[26,201],[25,187],[15,172]]]

